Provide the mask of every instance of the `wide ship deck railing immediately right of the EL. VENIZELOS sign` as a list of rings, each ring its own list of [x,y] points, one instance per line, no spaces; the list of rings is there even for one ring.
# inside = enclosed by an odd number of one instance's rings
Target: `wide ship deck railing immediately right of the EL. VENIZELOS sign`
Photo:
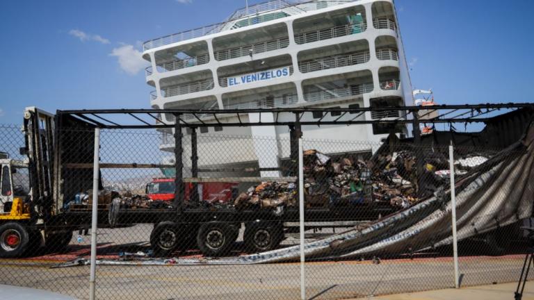
[[[361,51],[348,55],[329,56],[325,58],[317,58],[298,63],[298,69],[302,73],[321,71],[323,69],[332,69],[337,67],[347,67],[350,65],[358,65],[367,63],[369,61],[369,51]]]

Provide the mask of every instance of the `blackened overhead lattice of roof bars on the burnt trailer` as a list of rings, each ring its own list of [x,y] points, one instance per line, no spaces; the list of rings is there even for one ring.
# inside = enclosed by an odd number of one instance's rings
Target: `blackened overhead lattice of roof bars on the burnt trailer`
[[[508,113],[509,110],[528,109],[534,111],[534,103],[484,103],[464,105],[435,106],[383,106],[365,108],[251,108],[226,110],[162,110],[162,109],[107,109],[107,110],[57,110],[58,117],[70,116],[100,128],[172,128],[174,121],[165,122],[161,114],[173,115],[184,127],[210,126],[296,126],[296,125],[350,125],[350,124],[457,124],[491,122],[495,117]],[[359,118],[365,113],[400,112],[396,119]],[[430,118],[430,113],[437,111],[437,117]],[[259,114],[258,122],[244,121],[243,117],[250,113]],[[262,114],[274,114],[272,122],[262,122]],[[321,119],[314,119],[313,114],[322,113]],[[294,121],[279,121],[279,116],[290,114]],[[491,114],[491,115],[489,115]],[[124,121],[110,121],[113,116],[129,115]],[[193,115],[193,120],[184,115]],[[143,122],[143,119],[145,122]],[[238,121],[236,121],[238,119]],[[287,118],[280,118],[287,119]],[[157,121],[157,122],[154,122]],[[118,123],[121,122],[121,123]],[[152,123],[154,124],[152,124]]]

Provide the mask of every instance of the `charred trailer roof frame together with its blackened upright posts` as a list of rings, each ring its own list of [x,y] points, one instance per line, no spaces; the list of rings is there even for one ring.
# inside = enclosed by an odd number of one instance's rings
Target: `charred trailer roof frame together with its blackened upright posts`
[[[437,105],[437,106],[402,106],[402,107],[385,107],[385,108],[270,108],[270,109],[250,109],[250,110],[152,110],[152,109],[120,109],[120,110],[58,110],[56,115],[58,117],[69,115],[88,122],[91,126],[99,128],[122,128],[122,129],[147,129],[147,128],[172,128],[175,131],[175,200],[174,206],[179,212],[184,208],[184,174],[183,174],[183,145],[182,145],[182,128],[191,129],[191,172],[192,179],[198,177],[198,155],[197,155],[197,128],[202,127],[241,127],[241,126],[288,126],[290,131],[290,165],[289,176],[298,176],[298,139],[302,137],[302,126],[321,126],[321,125],[354,125],[354,124],[382,124],[394,127],[398,124],[412,124],[414,144],[420,144],[421,131],[419,124],[471,124],[488,122],[491,118],[480,117],[493,113],[496,110],[517,110],[520,108],[530,108],[534,110],[534,103],[486,103],[474,105]],[[419,111],[427,111],[424,115],[419,115]],[[435,110],[446,110],[433,119],[422,119],[430,115]],[[375,111],[389,112],[389,111],[403,111],[402,117],[396,118],[382,118],[357,120],[365,113],[372,113]],[[305,115],[312,115],[319,112],[322,117],[316,121],[308,121],[303,119]],[[241,118],[248,113],[259,113],[258,122],[244,122]],[[273,122],[262,122],[262,113],[273,113],[275,115]],[[324,121],[326,115],[337,113],[339,117],[333,120]],[[453,117],[448,117],[458,113]],[[159,117],[154,115],[169,114],[175,117],[174,124],[167,124]],[[292,114],[295,117],[293,122],[281,122],[279,117],[281,114]],[[343,119],[348,114],[355,114],[351,119]],[[136,120],[136,124],[118,124],[112,122],[102,115],[129,115]],[[193,116],[193,118],[186,119],[184,115]],[[409,119],[408,116],[412,115]],[[156,121],[156,124],[151,124],[143,119],[143,116],[148,116]],[[208,117],[206,117],[208,116]],[[237,117],[238,122],[227,122],[228,117]],[[98,121],[96,119],[98,119]],[[193,119],[193,121],[191,121]],[[103,123],[105,122],[105,123]],[[139,124],[140,123],[140,124]],[[417,160],[417,171],[422,172],[422,160]],[[280,168],[277,168],[280,170]],[[197,203],[199,195],[197,192],[197,181],[193,183],[191,189],[191,202]],[[188,183],[190,184],[190,183]]]

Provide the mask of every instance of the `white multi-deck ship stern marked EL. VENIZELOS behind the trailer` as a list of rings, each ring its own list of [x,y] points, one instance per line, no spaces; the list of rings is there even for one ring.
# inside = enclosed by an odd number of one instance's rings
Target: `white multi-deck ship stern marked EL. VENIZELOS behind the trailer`
[[[237,10],[223,23],[150,40],[143,47],[151,63],[147,83],[155,88],[152,108],[357,108],[412,101],[391,0],[269,1]],[[172,115],[161,117],[174,122]],[[313,117],[397,119],[403,113]],[[302,129],[306,138],[330,140],[379,141],[390,132],[372,124]],[[213,127],[199,134],[289,137],[283,126]],[[171,141],[169,132],[161,149],[172,151]],[[282,149],[273,152],[286,156]],[[221,163],[246,161],[248,154],[236,153]]]

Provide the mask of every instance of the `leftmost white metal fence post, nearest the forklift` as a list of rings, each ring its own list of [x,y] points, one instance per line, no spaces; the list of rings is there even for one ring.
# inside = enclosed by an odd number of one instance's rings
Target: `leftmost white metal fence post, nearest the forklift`
[[[95,300],[95,284],[97,272],[97,220],[98,220],[98,183],[100,128],[95,128],[95,156],[92,167],[92,215],[91,215],[91,268],[89,276],[89,299]]]

